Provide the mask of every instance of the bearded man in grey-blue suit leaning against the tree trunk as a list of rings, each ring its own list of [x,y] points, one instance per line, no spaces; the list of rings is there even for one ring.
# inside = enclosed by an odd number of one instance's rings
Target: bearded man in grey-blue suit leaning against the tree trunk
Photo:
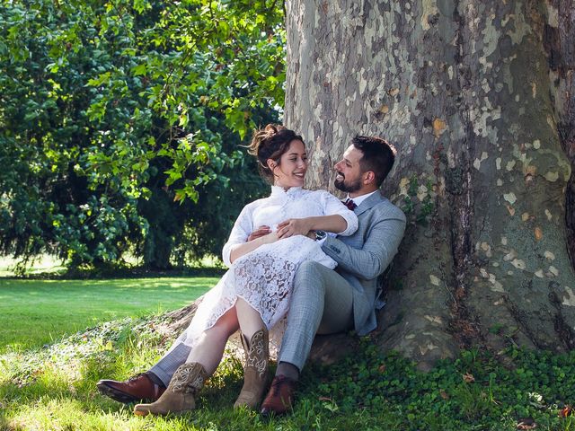
[[[334,185],[348,193],[346,205],[358,216],[358,231],[341,238],[322,231],[307,233],[321,242],[338,266],[334,270],[304,262],[297,269],[277,372],[261,404],[263,415],[281,415],[291,409],[297,379],[316,333],[355,329],[364,335],[376,329],[378,278],[394,258],[405,229],[403,212],[379,192],[394,159],[394,147],[384,139],[356,136],[335,164]],[[261,226],[248,240],[267,233],[269,227]],[[188,353],[180,344],[161,359],[162,366],[158,363],[127,382],[102,380],[98,390],[120,402],[157,400],[165,391],[165,378],[159,375],[169,370],[173,374]]]

